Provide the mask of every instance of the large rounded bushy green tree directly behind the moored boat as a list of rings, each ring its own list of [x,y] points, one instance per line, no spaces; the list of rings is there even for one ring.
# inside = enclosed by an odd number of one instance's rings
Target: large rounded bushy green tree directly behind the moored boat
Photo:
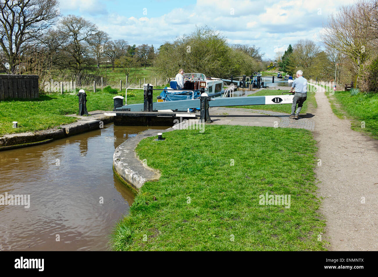
[[[156,73],[164,77],[175,76],[180,68],[211,77],[229,77],[240,74],[241,68],[251,70],[254,60],[232,49],[218,31],[205,26],[161,45],[154,66]]]

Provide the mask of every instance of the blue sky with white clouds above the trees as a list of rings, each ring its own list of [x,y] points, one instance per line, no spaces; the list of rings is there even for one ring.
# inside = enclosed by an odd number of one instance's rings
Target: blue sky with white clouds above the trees
[[[256,45],[264,59],[274,59],[300,39],[316,41],[328,16],[350,3],[353,0],[60,0],[60,15],[79,15],[112,39],[155,48],[207,25],[229,43]]]

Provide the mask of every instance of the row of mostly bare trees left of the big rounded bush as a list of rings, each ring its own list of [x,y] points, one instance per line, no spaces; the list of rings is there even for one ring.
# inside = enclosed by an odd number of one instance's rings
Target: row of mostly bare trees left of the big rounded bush
[[[61,16],[56,0],[0,0],[0,58],[11,74],[152,65],[153,45],[129,45],[82,17]]]

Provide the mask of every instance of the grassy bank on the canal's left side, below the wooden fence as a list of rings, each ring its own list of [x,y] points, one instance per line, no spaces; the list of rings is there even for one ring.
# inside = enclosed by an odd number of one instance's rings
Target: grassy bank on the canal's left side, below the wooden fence
[[[143,103],[143,90],[131,90],[135,96],[127,97],[127,104]],[[87,109],[90,113],[95,110],[113,110],[113,97],[125,95],[122,93],[86,92]],[[129,94],[129,91],[128,91]],[[160,91],[153,91],[153,99]],[[20,132],[33,132],[59,125],[75,122],[76,117],[68,114],[79,112],[79,98],[70,93],[40,95],[37,100],[11,99],[0,101],[0,135]],[[12,122],[19,122],[19,128],[12,128]]]

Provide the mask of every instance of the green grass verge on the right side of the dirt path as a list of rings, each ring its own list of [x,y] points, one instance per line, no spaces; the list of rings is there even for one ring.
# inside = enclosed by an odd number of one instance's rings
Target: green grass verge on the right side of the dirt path
[[[329,95],[329,92],[326,95],[336,116],[349,118],[353,130],[378,139],[378,94],[359,93],[352,96],[350,91],[336,91],[333,95]]]

